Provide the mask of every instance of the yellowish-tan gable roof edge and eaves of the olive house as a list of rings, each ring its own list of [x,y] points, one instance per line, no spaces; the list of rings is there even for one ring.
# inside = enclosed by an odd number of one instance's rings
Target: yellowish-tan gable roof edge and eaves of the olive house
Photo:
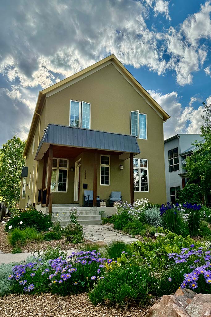
[[[144,97],[149,101],[150,104],[152,104],[152,106],[156,109],[156,111],[158,113],[160,113],[160,115],[163,117],[163,120],[167,120],[170,118],[170,116],[164,111],[163,108],[160,107],[160,105],[158,105],[158,103],[150,96],[150,94],[140,85],[140,83],[133,77],[132,74],[130,74],[130,72],[128,72],[128,70],[124,67],[124,65],[116,58],[115,55],[109,55],[108,57],[102,59],[101,61],[96,62],[95,64],[79,71],[76,74],[73,74],[65,79],[63,79],[62,81],[59,81],[58,83],[43,89],[42,91],[39,92],[38,95],[38,99],[37,99],[37,103],[36,103],[36,107],[35,107],[35,111],[34,111],[34,115],[32,118],[32,123],[30,126],[30,130],[29,130],[29,134],[28,134],[28,138],[27,138],[27,142],[26,142],[26,147],[24,150],[24,156],[26,155],[27,149],[28,149],[28,145],[30,144],[29,141],[32,139],[33,135],[33,127],[35,127],[36,125],[36,113],[39,113],[39,110],[41,110],[41,107],[45,101],[46,95],[49,93],[52,93],[53,90],[55,89],[59,89],[62,88],[62,86],[67,85],[68,83],[70,83],[73,80],[78,79],[80,76],[85,75],[86,73],[94,70],[97,67],[100,67],[101,65],[103,65],[106,62],[112,61],[114,63],[114,65],[119,68],[121,70],[121,72],[126,76],[126,78],[132,82],[133,86],[135,86],[135,88],[140,91],[140,93],[142,95],[144,95]],[[64,87],[65,88],[65,87]],[[38,118],[37,118],[38,119]]]

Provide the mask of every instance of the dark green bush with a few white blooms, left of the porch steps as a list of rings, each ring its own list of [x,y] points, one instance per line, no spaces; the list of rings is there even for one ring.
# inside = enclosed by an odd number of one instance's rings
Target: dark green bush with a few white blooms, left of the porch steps
[[[45,231],[51,226],[50,215],[45,215],[35,208],[27,208],[26,210],[19,211],[19,213],[14,213],[5,225],[5,230],[9,231],[11,228],[14,229],[16,227],[35,227],[38,231]]]

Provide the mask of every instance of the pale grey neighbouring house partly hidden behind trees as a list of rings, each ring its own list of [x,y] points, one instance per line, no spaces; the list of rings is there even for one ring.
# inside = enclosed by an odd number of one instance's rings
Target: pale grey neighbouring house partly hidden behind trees
[[[203,141],[200,134],[177,134],[164,141],[165,183],[167,201],[175,203],[187,183],[186,157],[196,150],[192,143]]]

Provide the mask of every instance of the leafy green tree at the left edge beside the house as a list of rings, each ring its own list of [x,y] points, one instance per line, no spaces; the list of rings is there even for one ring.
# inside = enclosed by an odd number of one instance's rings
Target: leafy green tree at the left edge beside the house
[[[0,149],[0,196],[9,207],[20,198],[21,171],[25,164],[23,151],[26,141],[14,136]]]

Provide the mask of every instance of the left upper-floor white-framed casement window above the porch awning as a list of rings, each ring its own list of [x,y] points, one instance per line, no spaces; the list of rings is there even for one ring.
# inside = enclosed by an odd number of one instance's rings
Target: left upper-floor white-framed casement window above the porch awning
[[[91,104],[70,100],[70,126],[90,129]]]

